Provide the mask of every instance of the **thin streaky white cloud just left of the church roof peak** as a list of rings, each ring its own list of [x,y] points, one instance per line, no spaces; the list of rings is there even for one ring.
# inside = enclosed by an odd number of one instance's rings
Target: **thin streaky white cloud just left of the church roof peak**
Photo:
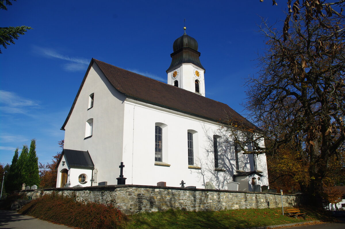
[[[57,58],[60,60],[68,61],[69,63],[63,64],[63,69],[66,71],[76,72],[76,71],[85,71],[86,67],[89,64],[89,61],[86,58],[70,57],[62,55],[55,50],[35,47],[36,51],[46,57]]]

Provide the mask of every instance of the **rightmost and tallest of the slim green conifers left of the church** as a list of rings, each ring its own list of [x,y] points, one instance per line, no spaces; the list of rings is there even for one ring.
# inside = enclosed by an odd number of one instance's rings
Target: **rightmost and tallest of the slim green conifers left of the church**
[[[39,185],[38,157],[36,156],[36,139],[31,140],[30,151],[27,160],[27,185]]]

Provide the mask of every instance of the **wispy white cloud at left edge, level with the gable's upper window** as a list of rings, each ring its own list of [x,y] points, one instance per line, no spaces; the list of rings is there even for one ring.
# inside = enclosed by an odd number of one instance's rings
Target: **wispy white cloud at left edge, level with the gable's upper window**
[[[26,114],[29,108],[40,108],[37,101],[23,98],[14,92],[0,90],[0,110],[9,114]]]

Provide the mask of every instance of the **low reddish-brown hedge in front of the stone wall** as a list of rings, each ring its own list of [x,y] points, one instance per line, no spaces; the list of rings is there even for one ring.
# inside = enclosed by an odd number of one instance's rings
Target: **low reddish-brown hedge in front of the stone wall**
[[[58,194],[44,195],[23,206],[20,213],[83,229],[119,228],[126,215],[112,205],[81,203]]]

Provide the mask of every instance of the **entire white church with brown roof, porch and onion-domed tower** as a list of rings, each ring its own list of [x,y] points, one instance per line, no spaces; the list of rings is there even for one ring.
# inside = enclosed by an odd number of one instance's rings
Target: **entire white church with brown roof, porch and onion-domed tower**
[[[61,128],[65,145],[56,187],[116,185],[121,162],[126,184],[180,187],[184,180],[205,188],[210,181],[227,190],[235,181],[240,191],[268,186],[265,154],[243,154],[220,128],[228,117],[256,127],[205,97],[196,40],[184,33],[173,50],[167,84],[91,60]]]

